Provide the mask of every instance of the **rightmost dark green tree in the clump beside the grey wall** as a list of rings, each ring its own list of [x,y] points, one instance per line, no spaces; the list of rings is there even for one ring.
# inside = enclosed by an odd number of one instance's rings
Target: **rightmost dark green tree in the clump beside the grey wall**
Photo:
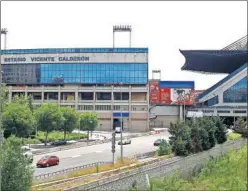
[[[215,138],[218,144],[222,144],[227,140],[226,125],[223,123],[223,120],[220,117],[215,117],[214,122],[216,126]]]

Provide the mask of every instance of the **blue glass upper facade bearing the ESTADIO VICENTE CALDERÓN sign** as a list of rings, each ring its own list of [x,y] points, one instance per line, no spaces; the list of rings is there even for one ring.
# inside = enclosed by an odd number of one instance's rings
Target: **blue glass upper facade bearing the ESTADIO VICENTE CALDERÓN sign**
[[[6,84],[147,84],[148,49],[2,50]]]

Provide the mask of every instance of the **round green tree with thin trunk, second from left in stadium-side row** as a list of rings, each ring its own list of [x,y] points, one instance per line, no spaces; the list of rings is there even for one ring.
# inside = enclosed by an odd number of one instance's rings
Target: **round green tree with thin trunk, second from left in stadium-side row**
[[[38,129],[45,131],[45,145],[47,145],[48,134],[63,125],[63,114],[57,104],[44,104],[37,109],[35,117]]]

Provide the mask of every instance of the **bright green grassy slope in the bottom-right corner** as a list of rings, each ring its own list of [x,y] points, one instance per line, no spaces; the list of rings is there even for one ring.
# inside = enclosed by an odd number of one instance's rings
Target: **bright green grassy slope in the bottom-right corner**
[[[247,190],[247,146],[209,161],[197,176],[181,179],[178,173],[153,179],[153,190]]]

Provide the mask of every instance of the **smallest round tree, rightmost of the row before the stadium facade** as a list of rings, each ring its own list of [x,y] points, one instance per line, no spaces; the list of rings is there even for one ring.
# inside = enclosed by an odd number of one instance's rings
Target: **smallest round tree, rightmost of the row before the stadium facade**
[[[89,133],[94,131],[98,126],[98,119],[95,113],[86,112],[80,115],[79,121],[80,129],[87,131],[89,140]]]

